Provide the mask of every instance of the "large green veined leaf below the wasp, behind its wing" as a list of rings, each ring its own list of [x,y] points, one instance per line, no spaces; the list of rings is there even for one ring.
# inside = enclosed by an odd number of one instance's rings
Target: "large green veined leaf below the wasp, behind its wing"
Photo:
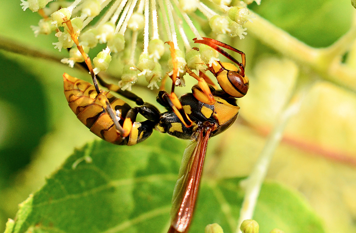
[[[6,231],[164,232],[186,144],[158,133],[134,147],[89,143],[20,205]],[[240,180],[203,179],[190,232],[204,232],[214,222],[225,233],[235,231],[244,195]],[[274,183],[263,185],[255,219],[261,232],[324,232],[302,198]]]

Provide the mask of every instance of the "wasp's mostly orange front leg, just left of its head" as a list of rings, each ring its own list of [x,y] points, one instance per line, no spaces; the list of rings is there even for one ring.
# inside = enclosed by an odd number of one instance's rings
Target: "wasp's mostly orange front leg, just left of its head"
[[[195,89],[195,90],[199,90],[199,91],[194,91],[192,88],[192,92],[194,97],[199,100],[200,102],[203,102],[205,104],[209,104],[209,105],[213,105],[215,103],[215,99],[213,97],[213,94],[211,94],[211,90],[209,88],[209,85],[206,83],[206,81],[204,80],[204,78],[199,77],[197,74],[195,74],[192,70],[190,70],[187,66],[185,66],[185,71],[187,71],[187,73],[192,76],[193,78],[198,80],[198,85],[199,85],[199,89]]]

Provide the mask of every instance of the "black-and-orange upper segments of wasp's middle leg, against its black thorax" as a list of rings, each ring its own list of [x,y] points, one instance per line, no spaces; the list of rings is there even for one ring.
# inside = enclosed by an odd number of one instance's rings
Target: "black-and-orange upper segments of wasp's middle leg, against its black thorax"
[[[176,98],[176,94],[172,93]],[[180,121],[183,122],[184,126],[189,128],[192,126],[192,120],[190,120],[189,116],[187,115],[187,113],[185,113],[182,104],[180,103],[180,101],[177,98],[176,103],[174,103],[171,99],[171,95],[168,94],[167,91],[159,91],[158,92],[158,96],[157,96],[157,102],[159,104],[161,104],[164,107],[169,108],[170,110],[172,110],[177,117],[179,118]],[[176,107],[176,106],[179,106]]]

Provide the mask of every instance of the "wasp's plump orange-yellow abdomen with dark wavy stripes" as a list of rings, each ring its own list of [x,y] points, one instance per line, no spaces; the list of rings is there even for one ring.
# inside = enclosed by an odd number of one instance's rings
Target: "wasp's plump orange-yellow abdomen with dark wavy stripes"
[[[91,132],[114,144],[133,145],[137,143],[137,137],[133,137],[133,141],[130,140],[131,133],[130,136],[123,138],[117,132],[114,122],[97,99],[98,93],[96,93],[94,85],[66,73],[63,74],[63,80],[64,95],[67,98],[69,107]],[[127,111],[131,108],[130,105],[109,92],[103,91],[103,95],[108,98],[112,109],[116,112],[117,120],[122,125]],[[131,130],[134,132],[141,126],[139,122],[135,123],[136,126],[134,124]]]

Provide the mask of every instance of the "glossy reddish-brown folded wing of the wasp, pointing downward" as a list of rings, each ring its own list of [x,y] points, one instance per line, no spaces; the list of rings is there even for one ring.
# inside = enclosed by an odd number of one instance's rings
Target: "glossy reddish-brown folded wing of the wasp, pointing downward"
[[[197,140],[184,150],[178,180],[173,191],[171,227],[168,233],[188,232],[197,200],[210,132],[211,129],[208,129],[203,136],[203,132],[200,131]]]

